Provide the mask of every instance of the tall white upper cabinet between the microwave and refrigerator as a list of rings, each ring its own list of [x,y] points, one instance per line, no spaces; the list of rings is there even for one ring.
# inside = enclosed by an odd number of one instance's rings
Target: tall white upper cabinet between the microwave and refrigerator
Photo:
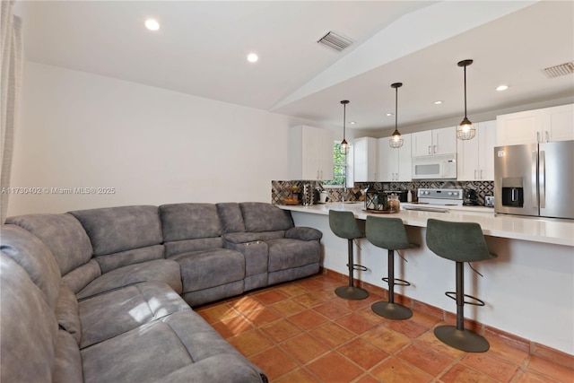
[[[474,124],[472,140],[457,140],[457,180],[494,180],[496,120]]]

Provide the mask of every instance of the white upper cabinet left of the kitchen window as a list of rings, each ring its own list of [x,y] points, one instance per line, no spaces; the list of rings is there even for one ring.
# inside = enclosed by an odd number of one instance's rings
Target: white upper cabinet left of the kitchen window
[[[333,179],[333,131],[314,126],[289,129],[289,178]]]

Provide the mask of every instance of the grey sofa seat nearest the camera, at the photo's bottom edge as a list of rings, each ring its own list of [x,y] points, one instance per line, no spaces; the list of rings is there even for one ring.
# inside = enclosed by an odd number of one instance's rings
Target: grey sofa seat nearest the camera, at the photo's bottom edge
[[[86,383],[263,381],[260,370],[191,310],[140,326],[81,353]],[[212,358],[202,368],[202,361]],[[207,371],[207,367],[215,370]]]

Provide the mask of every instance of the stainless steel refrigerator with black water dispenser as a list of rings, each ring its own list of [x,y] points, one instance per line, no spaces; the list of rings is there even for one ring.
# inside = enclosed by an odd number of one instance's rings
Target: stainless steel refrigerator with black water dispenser
[[[495,147],[494,211],[574,219],[574,141]]]

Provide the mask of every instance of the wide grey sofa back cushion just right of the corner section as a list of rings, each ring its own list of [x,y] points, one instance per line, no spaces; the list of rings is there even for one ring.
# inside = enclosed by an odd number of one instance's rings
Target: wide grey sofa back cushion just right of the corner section
[[[119,206],[70,212],[88,233],[93,255],[107,273],[163,257],[157,206]]]

